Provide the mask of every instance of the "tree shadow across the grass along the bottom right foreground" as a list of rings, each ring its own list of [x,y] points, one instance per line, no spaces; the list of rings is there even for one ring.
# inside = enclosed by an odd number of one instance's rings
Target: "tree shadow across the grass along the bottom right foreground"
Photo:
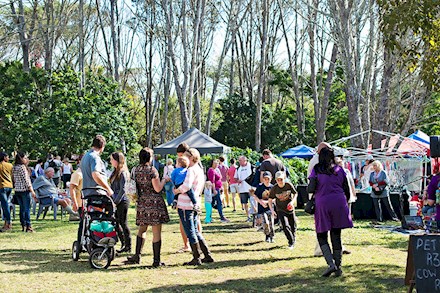
[[[244,263],[242,263],[244,265]],[[206,266],[207,267],[207,266]],[[205,268],[205,266],[203,266]],[[320,277],[324,268],[303,267],[292,269],[277,276],[252,279],[224,280],[202,284],[171,284],[156,287],[149,292],[364,292],[402,291],[403,279],[395,273],[400,267],[393,265],[371,265],[366,268],[347,266],[342,277]],[[137,291],[147,292],[147,291]]]

